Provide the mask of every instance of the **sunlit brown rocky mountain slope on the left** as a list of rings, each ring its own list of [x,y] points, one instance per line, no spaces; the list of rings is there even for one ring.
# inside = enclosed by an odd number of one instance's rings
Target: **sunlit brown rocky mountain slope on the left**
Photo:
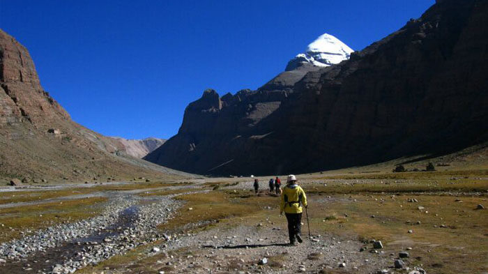
[[[181,174],[119,151],[70,119],[40,85],[24,46],[0,30],[0,181],[78,181]]]

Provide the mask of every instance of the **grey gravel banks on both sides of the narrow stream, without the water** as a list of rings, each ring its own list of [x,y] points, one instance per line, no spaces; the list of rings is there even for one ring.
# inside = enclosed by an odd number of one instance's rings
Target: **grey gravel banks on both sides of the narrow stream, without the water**
[[[185,193],[183,193],[185,194]],[[182,194],[179,194],[182,195]],[[171,240],[171,236],[159,234],[156,226],[167,222],[182,201],[172,199],[178,195],[151,197],[151,204],[141,204],[142,197],[121,196],[107,202],[105,210],[94,218],[70,224],[57,224],[48,229],[34,232],[17,240],[0,245],[0,257],[8,261],[18,261],[37,252],[45,252],[63,243],[96,235],[98,231],[118,224],[119,216],[128,208],[135,207],[135,220],[119,233],[110,234],[99,242],[78,243],[84,245],[81,251],[73,254],[63,264],[56,264],[50,273],[74,273],[77,269],[109,259],[116,254],[123,254],[139,245],[146,245],[159,239]],[[153,252],[159,252],[153,248]]]

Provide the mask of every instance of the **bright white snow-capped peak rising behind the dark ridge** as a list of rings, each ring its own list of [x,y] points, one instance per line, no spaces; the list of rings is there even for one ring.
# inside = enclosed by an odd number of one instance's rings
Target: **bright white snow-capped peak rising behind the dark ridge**
[[[298,68],[302,63],[314,66],[332,66],[349,59],[353,50],[341,40],[324,33],[307,46],[305,53],[300,53],[289,61],[286,70]]]

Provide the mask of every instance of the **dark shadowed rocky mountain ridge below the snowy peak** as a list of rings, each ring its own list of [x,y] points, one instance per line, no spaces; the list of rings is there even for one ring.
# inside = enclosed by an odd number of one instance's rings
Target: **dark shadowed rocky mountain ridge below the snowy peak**
[[[205,91],[146,159],[228,175],[443,155],[487,142],[487,75],[488,1],[438,0],[347,61],[304,62],[257,91]]]

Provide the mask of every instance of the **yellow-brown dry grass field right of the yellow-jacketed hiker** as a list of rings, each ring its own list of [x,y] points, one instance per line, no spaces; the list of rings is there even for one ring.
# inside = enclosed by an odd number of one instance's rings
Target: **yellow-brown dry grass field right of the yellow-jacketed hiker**
[[[411,203],[407,198],[419,202]],[[486,199],[462,197],[462,203],[455,199],[434,195],[314,197],[310,201],[310,224],[314,233],[379,239],[386,243],[386,252],[411,247],[410,264],[423,264],[427,272],[486,271],[488,211],[474,209],[477,204],[486,204]],[[418,206],[425,209],[420,211]],[[408,233],[409,229],[413,234]]]

